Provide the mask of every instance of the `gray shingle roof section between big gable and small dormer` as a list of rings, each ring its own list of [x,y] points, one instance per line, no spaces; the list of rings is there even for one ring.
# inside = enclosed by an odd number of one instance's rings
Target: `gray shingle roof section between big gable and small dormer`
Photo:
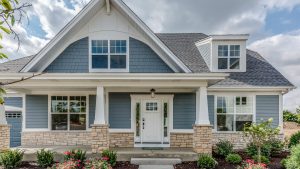
[[[158,33],[158,38],[194,73],[209,72],[195,42],[208,36],[202,33]]]

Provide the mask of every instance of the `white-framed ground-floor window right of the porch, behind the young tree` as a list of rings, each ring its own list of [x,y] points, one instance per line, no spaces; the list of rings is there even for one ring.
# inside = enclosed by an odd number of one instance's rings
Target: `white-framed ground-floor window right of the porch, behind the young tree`
[[[216,96],[217,131],[243,131],[252,122],[252,96]]]

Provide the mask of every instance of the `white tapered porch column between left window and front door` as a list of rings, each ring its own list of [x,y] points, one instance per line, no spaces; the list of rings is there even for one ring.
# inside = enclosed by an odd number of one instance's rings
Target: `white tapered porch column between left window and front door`
[[[96,110],[94,124],[106,124],[105,122],[105,96],[104,87],[97,86]]]

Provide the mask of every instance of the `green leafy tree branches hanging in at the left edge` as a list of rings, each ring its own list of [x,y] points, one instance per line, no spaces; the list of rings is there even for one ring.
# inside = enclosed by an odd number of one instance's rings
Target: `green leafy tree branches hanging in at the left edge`
[[[19,3],[19,0],[0,0],[0,41],[3,34],[13,35],[17,40],[18,49],[20,47],[20,38],[18,33],[14,30],[14,25],[20,24],[22,19],[27,16],[25,8],[30,7],[30,3]],[[0,59],[6,59],[8,56],[3,52],[3,46],[0,44]],[[3,94],[5,90],[3,86],[5,83],[0,83],[0,104],[3,104]]]

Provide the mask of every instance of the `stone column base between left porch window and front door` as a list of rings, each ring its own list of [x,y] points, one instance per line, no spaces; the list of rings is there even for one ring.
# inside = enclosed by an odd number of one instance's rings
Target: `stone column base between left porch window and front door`
[[[92,152],[100,153],[109,148],[109,132],[108,125],[94,124],[92,125]]]

